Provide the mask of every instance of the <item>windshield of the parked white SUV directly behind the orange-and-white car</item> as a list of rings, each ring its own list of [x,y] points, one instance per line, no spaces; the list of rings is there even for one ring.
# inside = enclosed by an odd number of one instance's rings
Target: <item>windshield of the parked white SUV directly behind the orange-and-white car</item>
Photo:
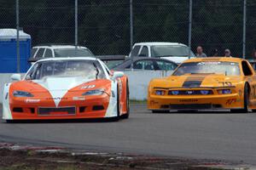
[[[55,57],[90,57],[94,56],[88,49],[78,48],[57,48],[55,51]]]

